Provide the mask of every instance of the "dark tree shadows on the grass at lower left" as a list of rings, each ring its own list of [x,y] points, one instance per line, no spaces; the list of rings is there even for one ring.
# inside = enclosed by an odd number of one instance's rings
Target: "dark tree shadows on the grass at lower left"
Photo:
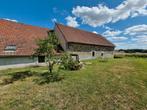
[[[33,82],[37,84],[46,84],[51,82],[61,81],[63,76],[60,76],[58,73],[37,73],[32,71],[20,71],[9,73],[5,75],[6,77],[2,81],[2,85],[12,84],[15,81],[23,81],[24,79],[32,76],[36,76],[37,78],[33,80]]]

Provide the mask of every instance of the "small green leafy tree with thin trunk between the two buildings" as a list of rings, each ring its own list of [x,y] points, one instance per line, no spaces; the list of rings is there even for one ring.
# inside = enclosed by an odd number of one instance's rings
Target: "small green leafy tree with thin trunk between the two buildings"
[[[48,64],[48,70],[52,73],[53,67],[55,65],[55,51],[57,50],[59,42],[54,32],[50,32],[49,36],[46,39],[40,39],[37,42],[38,48],[36,49],[35,54],[45,55],[46,62]]]

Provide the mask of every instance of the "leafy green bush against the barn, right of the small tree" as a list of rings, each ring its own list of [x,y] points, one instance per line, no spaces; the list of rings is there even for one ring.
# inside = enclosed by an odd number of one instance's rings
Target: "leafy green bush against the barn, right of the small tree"
[[[82,64],[79,61],[74,60],[70,55],[64,54],[61,57],[61,67],[65,70],[79,70],[82,68]]]

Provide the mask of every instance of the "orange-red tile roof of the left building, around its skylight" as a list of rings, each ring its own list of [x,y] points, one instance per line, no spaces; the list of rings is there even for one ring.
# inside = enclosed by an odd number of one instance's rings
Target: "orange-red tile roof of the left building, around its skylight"
[[[48,36],[49,29],[22,23],[0,20],[0,56],[30,56],[37,48],[36,40]],[[4,51],[8,45],[16,45],[16,52]]]

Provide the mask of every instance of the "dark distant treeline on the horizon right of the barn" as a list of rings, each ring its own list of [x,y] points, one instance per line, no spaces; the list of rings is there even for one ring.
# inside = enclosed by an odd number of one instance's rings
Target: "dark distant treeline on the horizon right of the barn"
[[[147,50],[145,49],[119,49],[118,50],[119,52],[125,52],[125,53],[136,53],[136,52],[139,52],[139,53],[147,53]]]

